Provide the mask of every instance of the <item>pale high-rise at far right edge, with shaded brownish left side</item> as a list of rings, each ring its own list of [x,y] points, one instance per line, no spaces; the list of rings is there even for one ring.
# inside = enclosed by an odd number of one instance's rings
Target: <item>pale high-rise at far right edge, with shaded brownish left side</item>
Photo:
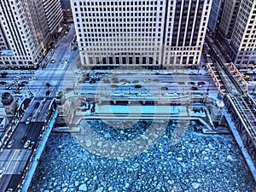
[[[256,2],[254,0],[233,0],[232,3],[234,9],[232,15],[225,15],[230,11],[230,4],[224,5],[223,22],[220,23],[219,33],[223,38],[228,38],[229,55],[236,67],[254,68],[256,65]],[[224,20],[231,20],[230,25]]]

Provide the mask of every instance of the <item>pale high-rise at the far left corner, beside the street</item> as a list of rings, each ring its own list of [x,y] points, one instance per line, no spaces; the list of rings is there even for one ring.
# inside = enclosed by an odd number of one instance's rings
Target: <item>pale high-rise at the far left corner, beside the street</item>
[[[0,1],[1,68],[38,67],[51,41],[50,32],[59,25],[46,5],[42,0]]]

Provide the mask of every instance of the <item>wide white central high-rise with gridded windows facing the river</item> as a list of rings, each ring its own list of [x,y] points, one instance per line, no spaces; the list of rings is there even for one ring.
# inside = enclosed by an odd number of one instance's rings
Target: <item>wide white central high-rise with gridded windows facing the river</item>
[[[71,0],[85,67],[197,67],[212,0]]]

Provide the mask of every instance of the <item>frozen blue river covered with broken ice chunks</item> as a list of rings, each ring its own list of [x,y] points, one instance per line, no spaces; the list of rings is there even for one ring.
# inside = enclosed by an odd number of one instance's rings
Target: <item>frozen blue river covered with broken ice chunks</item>
[[[172,137],[178,135],[175,122],[153,125],[151,121],[130,123],[126,129],[111,129],[101,120],[90,121],[90,130],[104,138],[101,141],[96,141],[98,137],[90,138],[87,128],[79,134],[51,134],[29,191],[256,190],[231,135],[204,135],[202,127],[192,122],[182,137],[173,142]],[[152,140],[147,135],[149,126],[159,129],[160,125],[165,126],[160,130],[163,133]],[[118,146],[105,142],[129,143],[141,135],[146,144],[127,147],[130,151],[124,152],[123,158],[114,155]],[[137,153],[141,148],[143,151]]]

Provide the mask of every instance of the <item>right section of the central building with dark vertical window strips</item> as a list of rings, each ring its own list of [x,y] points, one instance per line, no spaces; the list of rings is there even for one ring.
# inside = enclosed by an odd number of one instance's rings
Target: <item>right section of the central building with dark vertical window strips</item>
[[[166,1],[165,38],[163,67],[196,68],[201,59],[201,51],[212,0]]]

